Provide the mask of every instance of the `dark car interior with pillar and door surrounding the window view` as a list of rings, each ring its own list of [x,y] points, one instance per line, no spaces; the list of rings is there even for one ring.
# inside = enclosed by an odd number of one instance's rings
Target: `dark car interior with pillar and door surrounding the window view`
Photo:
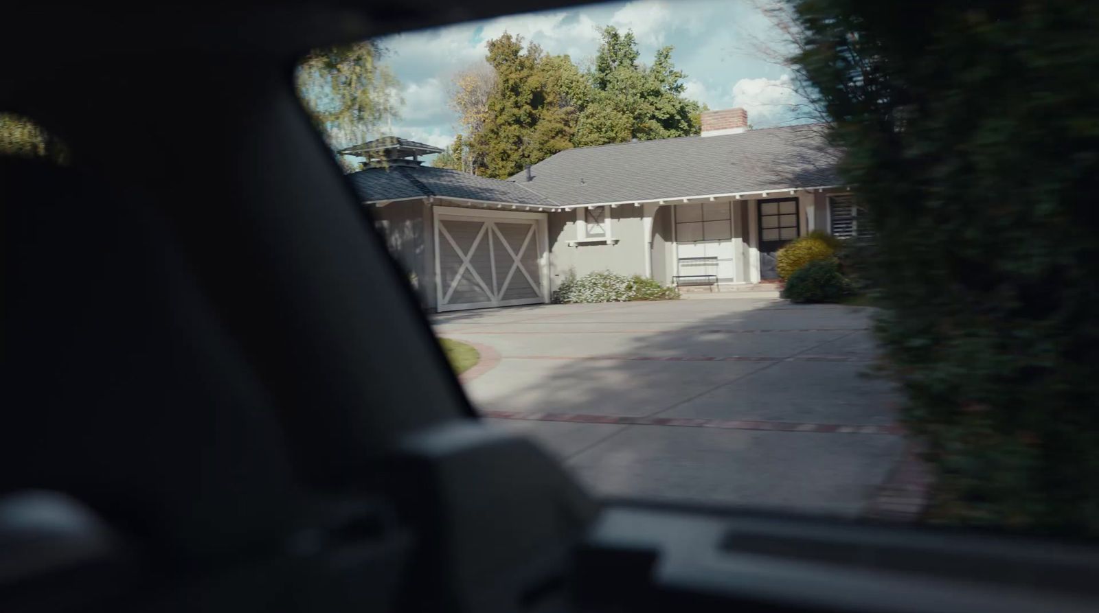
[[[5,9],[0,611],[1096,611],[1081,543],[602,500],[481,424],[296,97],[564,4]]]

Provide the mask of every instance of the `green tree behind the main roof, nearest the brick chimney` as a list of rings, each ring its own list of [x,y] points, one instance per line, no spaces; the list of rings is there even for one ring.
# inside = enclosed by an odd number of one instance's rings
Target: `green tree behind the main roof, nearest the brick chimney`
[[[685,75],[671,62],[673,47],[657,49],[653,64],[643,66],[632,32],[607,26],[602,38],[588,74],[591,93],[578,119],[577,146],[699,133],[701,108],[682,96]]]

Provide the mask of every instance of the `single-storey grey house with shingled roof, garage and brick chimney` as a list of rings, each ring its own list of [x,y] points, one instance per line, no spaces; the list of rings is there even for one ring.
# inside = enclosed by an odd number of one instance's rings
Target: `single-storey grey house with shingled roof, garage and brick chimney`
[[[857,232],[821,127],[748,130],[742,109],[703,113],[701,136],[567,149],[509,180],[420,163],[440,151],[386,137],[341,152],[365,158],[349,178],[437,311],[548,302],[596,270],[756,283],[797,236]]]

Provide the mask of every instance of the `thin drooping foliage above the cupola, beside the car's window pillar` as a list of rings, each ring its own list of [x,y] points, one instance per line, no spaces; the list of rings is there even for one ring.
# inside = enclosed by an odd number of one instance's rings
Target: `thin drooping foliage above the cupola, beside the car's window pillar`
[[[333,149],[369,141],[399,118],[400,83],[379,64],[385,54],[364,41],[314,49],[298,65],[299,96]]]

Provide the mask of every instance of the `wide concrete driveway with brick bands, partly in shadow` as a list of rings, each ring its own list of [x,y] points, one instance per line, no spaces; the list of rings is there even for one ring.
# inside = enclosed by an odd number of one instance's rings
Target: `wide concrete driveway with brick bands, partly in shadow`
[[[465,382],[598,493],[857,516],[904,455],[870,309],[761,294],[448,313]]]

